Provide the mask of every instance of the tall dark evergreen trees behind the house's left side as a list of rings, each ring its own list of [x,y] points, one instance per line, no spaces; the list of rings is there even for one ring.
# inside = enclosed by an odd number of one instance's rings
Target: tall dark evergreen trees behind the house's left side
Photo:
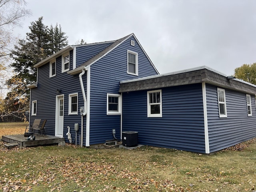
[[[26,39],[19,40],[12,50],[11,57],[14,62],[14,76],[7,81],[10,88],[6,97],[6,104],[19,102],[24,108],[29,108],[29,89],[27,86],[36,82],[36,68],[34,65],[48,56],[62,49],[68,44],[66,33],[56,24],[50,29],[43,24],[43,17],[31,22],[30,32]]]

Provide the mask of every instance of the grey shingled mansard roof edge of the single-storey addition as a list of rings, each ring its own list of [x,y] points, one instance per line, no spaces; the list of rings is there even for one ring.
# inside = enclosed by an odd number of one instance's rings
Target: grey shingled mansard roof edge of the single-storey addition
[[[120,82],[119,92],[149,90],[202,82],[220,86],[222,88],[256,94],[256,85],[239,79],[228,79],[225,74],[207,66],[122,81]]]

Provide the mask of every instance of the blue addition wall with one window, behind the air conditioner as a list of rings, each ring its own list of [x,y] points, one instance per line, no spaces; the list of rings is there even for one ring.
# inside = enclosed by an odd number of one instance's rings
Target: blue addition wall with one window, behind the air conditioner
[[[138,143],[205,153],[202,84],[162,88],[162,118],[147,117],[147,91],[124,92],[122,131]]]

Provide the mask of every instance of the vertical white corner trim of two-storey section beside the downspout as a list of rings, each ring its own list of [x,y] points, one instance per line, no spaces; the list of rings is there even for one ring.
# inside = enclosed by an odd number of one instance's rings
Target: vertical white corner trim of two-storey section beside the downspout
[[[87,106],[86,106],[86,138],[85,138],[85,146],[90,146],[90,86],[91,86],[91,68],[90,66],[87,67]]]

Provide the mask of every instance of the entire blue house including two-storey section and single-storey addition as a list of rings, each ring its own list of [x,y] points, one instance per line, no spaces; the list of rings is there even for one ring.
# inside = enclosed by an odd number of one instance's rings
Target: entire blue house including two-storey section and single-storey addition
[[[47,119],[46,134],[66,142],[137,131],[139,144],[208,154],[256,137],[256,86],[206,66],[159,74],[134,34],[68,46],[35,67],[30,121]]]

